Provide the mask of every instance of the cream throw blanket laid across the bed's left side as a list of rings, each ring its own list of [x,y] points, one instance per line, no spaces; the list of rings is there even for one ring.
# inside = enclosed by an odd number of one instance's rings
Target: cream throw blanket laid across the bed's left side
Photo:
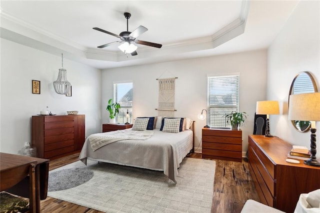
[[[153,130],[116,130],[103,133],[91,134],[88,139],[93,151],[118,140],[146,140],[153,135]]]

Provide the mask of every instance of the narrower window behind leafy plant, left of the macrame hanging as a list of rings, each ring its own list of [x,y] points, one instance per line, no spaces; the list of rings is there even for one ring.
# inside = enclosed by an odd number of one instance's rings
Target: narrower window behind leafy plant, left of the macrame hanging
[[[132,82],[113,83],[113,101],[121,108],[115,118],[117,123],[132,123]],[[126,116],[128,112],[128,117]]]

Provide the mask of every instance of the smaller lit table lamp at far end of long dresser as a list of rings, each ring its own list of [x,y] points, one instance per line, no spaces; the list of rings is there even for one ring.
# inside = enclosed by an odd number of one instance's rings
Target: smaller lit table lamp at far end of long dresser
[[[266,114],[266,128],[265,135],[266,137],[273,137],[270,134],[269,127],[269,114],[279,114],[279,102],[277,100],[262,100],[256,101],[256,114]]]

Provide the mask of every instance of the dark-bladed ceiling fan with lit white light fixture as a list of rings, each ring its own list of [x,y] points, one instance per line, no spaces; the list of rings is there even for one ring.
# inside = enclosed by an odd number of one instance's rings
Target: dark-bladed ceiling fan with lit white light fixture
[[[132,32],[128,31],[128,19],[131,17],[131,14],[129,12],[124,12],[123,14],[124,14],[124,17],[126,18],[126,31],[120,32],[119,35],[114,34],[112,32],[109,32],[109,31],[106,31],[104,29],[98,28],[98,27],[93,27],[93,29],[95,29],[95,30],[113,35],[113,36],[121,39],[118,41],[113,41],[110,43],[106,43],[106,44],[97,46],[98,48],[103,48],[103,47],[106,47],[106,46],[109,46],[109,45],[112,45],[115,43],[122,43],[121,45],[118,46],[118,48],[121,49],[121,51],[123,51],[125,54],[131,53],[131,55],[137,55],[137,52],[135,51],[137,46],[134,45],[133,43],[161,48],[162,44],[159,44],[159,43],[152,43],[152,42],[145,41],[145,40],[136,40],[135,38],[137,36],[139,36],[140,34],[142,34],[145,31],[147,31],[148,29],[145,28],[144,26],[140,25],[136,29],[134,29]]]

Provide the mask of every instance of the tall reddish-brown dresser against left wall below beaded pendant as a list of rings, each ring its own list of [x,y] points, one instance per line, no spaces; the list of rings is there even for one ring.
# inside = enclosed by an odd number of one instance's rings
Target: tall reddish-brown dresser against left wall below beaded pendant
[[[78,152],[84,135],[84,114],[32,116],[32,146],[37,157],[55,159]]]

